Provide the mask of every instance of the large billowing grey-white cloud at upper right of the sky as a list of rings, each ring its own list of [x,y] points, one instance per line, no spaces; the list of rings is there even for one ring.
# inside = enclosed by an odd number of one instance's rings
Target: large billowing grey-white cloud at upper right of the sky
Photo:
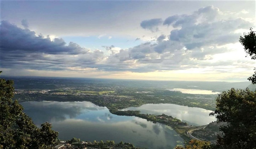
[[[218,8],[207,6],[192,14],[167,17],[163,25],[176,28],[171,31],[169,40],[178,41],[189,50],[236,43],[241,34],[234,31],[253,26],[242,18],[223,18],[224,13]]]

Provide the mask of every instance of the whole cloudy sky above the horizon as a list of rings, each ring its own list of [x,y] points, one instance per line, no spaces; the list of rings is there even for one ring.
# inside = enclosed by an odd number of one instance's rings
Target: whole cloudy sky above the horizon
[[[6,76],[247,81],[253,1],[0,1]]]

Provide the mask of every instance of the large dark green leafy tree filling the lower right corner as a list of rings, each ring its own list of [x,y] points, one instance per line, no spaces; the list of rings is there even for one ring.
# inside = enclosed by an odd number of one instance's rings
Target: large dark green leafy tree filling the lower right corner
[[[219,149],[256,149],[256,92],[231,89],[216,99],[216,110],[210,113],[220,122],[223,138],[218,136]]]

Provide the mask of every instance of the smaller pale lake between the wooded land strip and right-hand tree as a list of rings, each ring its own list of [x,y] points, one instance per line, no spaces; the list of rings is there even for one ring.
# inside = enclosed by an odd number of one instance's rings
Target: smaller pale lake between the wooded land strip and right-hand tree
[[[164,113],[194,126],[207,125],[216,120],[214,116],[209,116],[209,113],[212,112],[210,110],[168,103],[145,104],[139,107],[129,107],[122,110],[139,110],[143,114],[148,113],[153,115],[162,115]]]

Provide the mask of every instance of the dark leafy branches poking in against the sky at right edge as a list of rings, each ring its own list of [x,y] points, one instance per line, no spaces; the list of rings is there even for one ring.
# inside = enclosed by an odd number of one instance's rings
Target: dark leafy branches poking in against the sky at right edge
[[[244,36],[240,36],[239,42],[244,46],[244,51],[250,55],[252,60],[256,60],[256,34],[253,28],[250,28],[248,34],[244,33]],[[254,68],[254,74],[248,78],[253,84],[256,84],[256,68]]]

